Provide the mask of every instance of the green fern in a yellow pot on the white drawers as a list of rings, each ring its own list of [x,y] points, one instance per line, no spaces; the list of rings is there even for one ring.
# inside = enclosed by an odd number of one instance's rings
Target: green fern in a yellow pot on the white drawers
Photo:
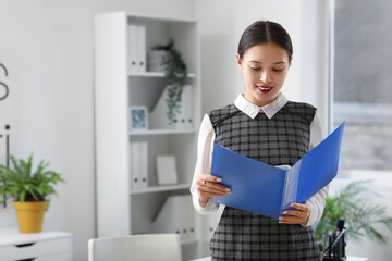
[[[45,161],[33,172],[33,154],[27,162],[15,160],[13,156],[10,160],[12,166],[0,165],[0,195],[5,196],[1,203],[9,198],[15,200],[13,206],[21,233],[40,232],[48,196],[56,194],[53,186],[64,179],[57,172],[46,171],[49,162]]]

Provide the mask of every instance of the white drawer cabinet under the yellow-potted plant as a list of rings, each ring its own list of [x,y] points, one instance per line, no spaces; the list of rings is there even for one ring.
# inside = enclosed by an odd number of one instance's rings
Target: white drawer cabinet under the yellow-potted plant
[[[1,261],[71,261],[72,235],[64,232],[19,233],[17,227],[0,228]]]

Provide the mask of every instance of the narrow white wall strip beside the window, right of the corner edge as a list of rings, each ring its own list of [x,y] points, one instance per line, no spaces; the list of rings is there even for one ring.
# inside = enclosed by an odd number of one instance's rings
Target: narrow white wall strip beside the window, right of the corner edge
[[[329,1],[302,0],[301,100],[318,108],[329,125]]]

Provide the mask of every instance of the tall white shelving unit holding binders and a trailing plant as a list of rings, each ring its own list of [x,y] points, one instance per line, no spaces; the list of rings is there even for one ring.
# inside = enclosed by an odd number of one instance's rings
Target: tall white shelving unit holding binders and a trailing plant
[[[174,39],[189,72],[193,127],[188,129],[128,129],[128,108],[151,111],[167,79],[162,72],[130,72],[130,24],[146,27],[146,52]],[[197,23],[193,20],[146,16],[125,12],[98,14],[95,18],[95,107],[98,236],[151,233],[154,219],[172,195],[189,195],[200,124],[200,70]],[[130,185],[131,141],[147,141],[148,187]],[[155,157],[174,154],[179,184],[159,186]],[[200,223],[199,217],[196,217]],[[200,239],[198,239],[200,238]],[[183,241],[185,259],[197,258],[203,236]]]

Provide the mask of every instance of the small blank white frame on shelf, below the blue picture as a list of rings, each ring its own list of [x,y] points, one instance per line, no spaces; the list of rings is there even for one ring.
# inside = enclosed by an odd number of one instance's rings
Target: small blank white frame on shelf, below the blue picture
[[[175,156],[157,156],[157,177],[158,185],[177,184]]]

